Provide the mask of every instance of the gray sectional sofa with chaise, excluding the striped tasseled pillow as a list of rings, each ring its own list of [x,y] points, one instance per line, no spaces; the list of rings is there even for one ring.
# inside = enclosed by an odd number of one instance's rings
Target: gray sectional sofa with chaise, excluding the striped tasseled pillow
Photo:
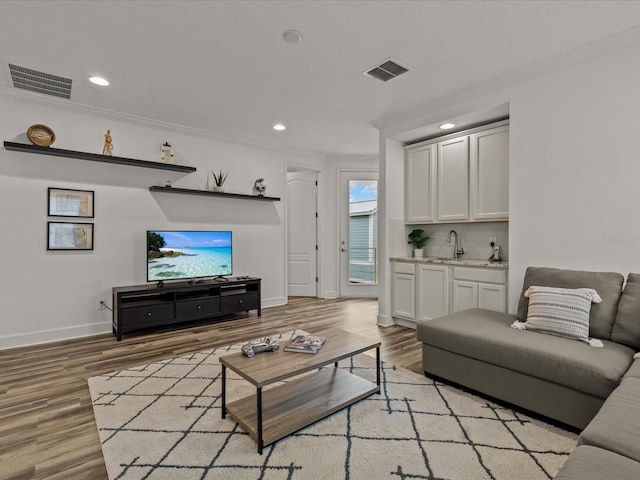
[[[516,315],[470,309],[421,322],[425,374],[583,430],[559,479],[640,478],[640,275],[527,269]],[[596,348],[526,324],[532,286],[594,289]],[[599,343],[599,342],[596,342]]]

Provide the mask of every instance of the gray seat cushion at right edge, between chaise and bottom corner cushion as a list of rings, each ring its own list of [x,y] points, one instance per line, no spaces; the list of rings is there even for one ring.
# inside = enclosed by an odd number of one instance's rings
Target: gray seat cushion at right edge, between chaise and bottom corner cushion
[[[640,379],[624,377],[587,425],[578,445],[605,448],[640,461]],[[640,477],[638,477],[640,478]]]

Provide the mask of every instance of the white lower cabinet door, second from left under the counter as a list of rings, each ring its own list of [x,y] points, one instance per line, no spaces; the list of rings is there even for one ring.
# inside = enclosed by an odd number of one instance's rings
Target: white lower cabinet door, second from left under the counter
[[[416,320],[431,320],[449,313],[449,267],[418,265]]]

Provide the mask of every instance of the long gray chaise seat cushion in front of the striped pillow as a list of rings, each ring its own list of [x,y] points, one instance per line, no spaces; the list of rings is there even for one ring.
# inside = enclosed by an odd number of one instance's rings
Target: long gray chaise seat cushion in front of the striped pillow
[[[604,348],[510,327],[513,315],[474,308],[417,325],[427,345],[606,398],[629,368],[634,351],[604,340]]]

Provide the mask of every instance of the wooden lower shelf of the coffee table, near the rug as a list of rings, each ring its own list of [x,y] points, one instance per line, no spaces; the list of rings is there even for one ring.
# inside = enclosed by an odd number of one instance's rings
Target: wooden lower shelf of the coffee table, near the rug
[[[339,368],[325,368],[264,390],[262,439],[257,395],[231,402],[226,408],[259,446],[266,446],[379,392],[380,387],[375,383]]]

